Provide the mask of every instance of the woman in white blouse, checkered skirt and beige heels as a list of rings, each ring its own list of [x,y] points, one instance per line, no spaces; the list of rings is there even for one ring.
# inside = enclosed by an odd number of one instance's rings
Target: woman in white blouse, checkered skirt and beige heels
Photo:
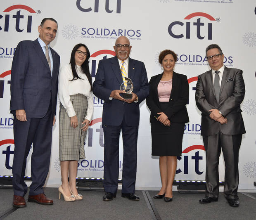
[[[76,189],[76,174],[79,159],[85,158],[85,136],[93,113],[89,58],[88,48],[78,44],[71,52],[70,64],[59,72],[59,199],[62,194],[65,201],[83,199]]]

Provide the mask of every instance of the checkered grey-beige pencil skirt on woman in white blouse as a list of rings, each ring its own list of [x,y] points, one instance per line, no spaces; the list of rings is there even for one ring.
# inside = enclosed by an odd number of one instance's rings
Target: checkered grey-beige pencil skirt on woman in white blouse
[[[87,131],[82,131],[82,122],[87,112],[87,97],[81,94],[71,95],[70,100],[76,112],[78,126],[70,125],[70,118],[64,106],[59,105],[59,160],[79,161],[85,158],[84,142]]]

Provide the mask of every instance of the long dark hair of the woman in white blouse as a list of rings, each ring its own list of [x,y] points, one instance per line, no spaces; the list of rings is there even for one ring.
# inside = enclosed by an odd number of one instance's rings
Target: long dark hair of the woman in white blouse
[[[89,70],[89,58],[90,58],[90,51],[88,49],[88,47],[86,47],[86,45],[82,44],[82,43],[79,43],[77,44],[76,46],[74,46],[72,52],[71,52],[71,56],[70,56],[70,65],[71,65],[71,69],[72,69],[72,73],[73,73],[73,79],[72,80],[76,80],[76,79],[81,79],[77,72],[76,72],[76,61],[75,61],[75,53],[76,53],[76,50],[79,48],[79,47],[85,47],[86,49],[86,52],[87,52],[87,56],[86,56],[86,59],[85,59],[85,62],[83,62],[83,64],[81,65],[81,69],[83,71],[83,73],[85,73],[85,75],[87,76],[88,78],[88,81],[91,85],[91,91],[92,91],[92,76],[90,74],[90,70]],[[70,80],[70,81],[72,81]]]

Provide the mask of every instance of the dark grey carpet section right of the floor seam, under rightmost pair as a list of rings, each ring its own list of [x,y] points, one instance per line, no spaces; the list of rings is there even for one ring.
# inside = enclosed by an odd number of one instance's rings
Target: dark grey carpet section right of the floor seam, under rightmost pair
[[[157,192],[149,191],[151,197]],[[252,220],[256,219],[256,200],[239,194],[240,206],[231,207],[219,194],[217,202],[199,203],[204,194],[180,194],[173,192],[173,201],[166,203],[163,199],[152,199],[161,219],[175,220]],[[254,194],[256,195],[256,193]]]

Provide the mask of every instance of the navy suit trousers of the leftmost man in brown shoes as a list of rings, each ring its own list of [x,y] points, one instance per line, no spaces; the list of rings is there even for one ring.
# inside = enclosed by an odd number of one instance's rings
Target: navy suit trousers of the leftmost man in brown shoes
[[[31,176],[29,194],[43,193],[43,185],[49,171],[52,145],[52,104],[43,118],[27,118],[18,121],[14,111],[14,158],[12,166],[14,194],[24,196],[27,185],[24,182],[26,160],[33,143],[31,156]]]

